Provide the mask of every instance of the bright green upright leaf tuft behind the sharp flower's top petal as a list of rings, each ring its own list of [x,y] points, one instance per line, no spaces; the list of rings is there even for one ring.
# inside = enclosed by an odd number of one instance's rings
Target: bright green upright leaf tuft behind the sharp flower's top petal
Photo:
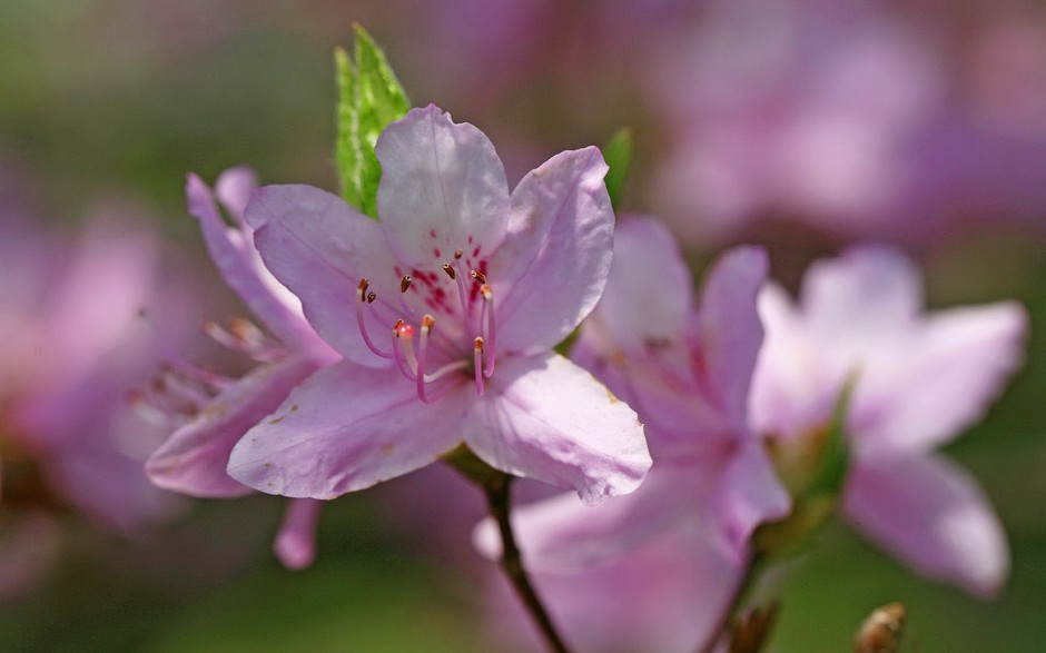
[[[341,48],[334,50],[338,86],[335,160],[342,197],[376,218],[382,167],[374,144],[389,122],[406,116],[411,102],[371,34],[358,24],[353,29],[354,59]]]

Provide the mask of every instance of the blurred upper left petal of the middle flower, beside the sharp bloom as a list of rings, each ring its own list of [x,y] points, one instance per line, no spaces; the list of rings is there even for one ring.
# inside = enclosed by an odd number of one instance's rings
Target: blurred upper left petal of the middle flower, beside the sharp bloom
[[[616,349],[674,340],[690,319],[693,280],[669,230],[650,218],[621,220],[606,289],[593,314]],[[609,353],[608,353],[609,354]]]

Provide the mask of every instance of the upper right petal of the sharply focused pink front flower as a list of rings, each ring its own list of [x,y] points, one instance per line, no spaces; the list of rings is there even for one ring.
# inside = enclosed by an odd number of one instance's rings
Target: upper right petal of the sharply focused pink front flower
[[[595,307],[613,253],[606,169],[596,148],[561,152],[512,192],[509,236],[490,275],[499,348],[549,349]]]

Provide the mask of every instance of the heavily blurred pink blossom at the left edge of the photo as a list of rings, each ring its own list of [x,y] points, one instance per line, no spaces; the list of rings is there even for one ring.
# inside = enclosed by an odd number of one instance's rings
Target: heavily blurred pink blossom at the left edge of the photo
[[[130,533],[178,502],[141,472],[161,435],[126,395],[161,343],[187,340],[195,311],[190,277],[125,214],[101,208],[71,241],[3,222],[0,464],[4,508],[58,501]]]

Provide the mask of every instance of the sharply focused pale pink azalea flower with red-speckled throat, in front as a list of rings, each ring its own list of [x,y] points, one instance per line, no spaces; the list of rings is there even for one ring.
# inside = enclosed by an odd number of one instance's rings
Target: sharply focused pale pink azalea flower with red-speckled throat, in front
[[[248,432],[229,474],[332,498],[464,443],[590,503],[634,489],[650,466],[635,414],[552,352],[610,268],[599,151],[560,154],[510,195],[490,140],[430,106],[376,152],[381,221],[306,186],[263,188],[247,207],[266,265],[346,360]]]

